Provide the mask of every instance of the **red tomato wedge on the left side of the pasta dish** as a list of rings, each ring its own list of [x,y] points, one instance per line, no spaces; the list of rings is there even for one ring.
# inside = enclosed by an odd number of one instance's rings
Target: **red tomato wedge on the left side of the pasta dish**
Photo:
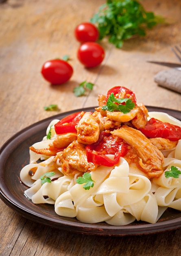
[[[63,134],[67,132],[77,132],[75,126],[79,123],[83,117],[84,112],[76,112],[67,117],[61,119],[57,124],[55,124],[55,132],[57,134]]]

